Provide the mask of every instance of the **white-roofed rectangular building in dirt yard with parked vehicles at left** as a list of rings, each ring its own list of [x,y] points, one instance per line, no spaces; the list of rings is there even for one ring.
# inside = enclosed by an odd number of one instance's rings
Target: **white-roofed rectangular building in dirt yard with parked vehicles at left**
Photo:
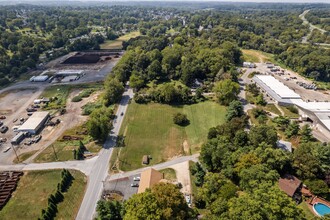
[[[49,118],[49,112],[34,112],[18,129],[19,132],[37,134]]]

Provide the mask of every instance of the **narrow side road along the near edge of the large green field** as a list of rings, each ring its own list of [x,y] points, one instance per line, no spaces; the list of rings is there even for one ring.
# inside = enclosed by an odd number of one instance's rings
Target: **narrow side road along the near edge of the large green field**
[[[197,162],[198,157],[199,157],[199,154],[178,157],[178,158],[175,158],[173,160],[166,161],[164,163],[159,163],[159,164],[156,164],[156,165],[153,165],[153,166],[148,166],[148,167],[140,168],[140,169],[125,172],[125,173],[118,173],[118,174],[111,175],[107,178],[107,181],[120,179],[120,178],[124,178],[124,177],[129,177],[129,176],[134,176],[134,175],[142,173],[144,170],[149,169],[149,168],[153,168],[155,170],[162,170],[162,169],[165,169],[165,168],[170,167],[172,165],[175,165],[175,164],[178,164],[178,163],[183,163],[183,162],[186,162],[186,161],[189,161],[189,160]]]

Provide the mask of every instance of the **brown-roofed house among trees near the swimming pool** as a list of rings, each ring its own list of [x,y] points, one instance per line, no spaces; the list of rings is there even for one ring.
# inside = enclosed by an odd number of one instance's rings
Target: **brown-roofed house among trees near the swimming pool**
[[[297,203],[301,202],[302,182],[295,176],[286,174],[278,181],[280,189]]]

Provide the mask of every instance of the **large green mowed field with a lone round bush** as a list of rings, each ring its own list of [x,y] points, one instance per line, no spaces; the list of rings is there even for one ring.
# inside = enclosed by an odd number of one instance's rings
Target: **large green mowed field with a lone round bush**
[[[178,112],[187,114],[188,126],[173,123],[173,115]],[[125,146],[120,148],[119,168],[127,171],[141,167],[143,155],[151,155],[150,164],[157,164],[198,152],[209,128],[222,124],[225,113],[225,107],[211,101],[184,106],[132,102],[120,131]]]

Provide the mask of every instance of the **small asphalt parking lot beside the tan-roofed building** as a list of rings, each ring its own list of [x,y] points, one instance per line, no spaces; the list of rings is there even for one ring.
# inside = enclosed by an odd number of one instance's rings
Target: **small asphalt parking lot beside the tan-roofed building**
[[[132,195],[136,194],[138,191],[138,185],[132,187],[131,184],[139,184],[139,181],[134,181],[134,177],[140,177],[140,175],[134,175],[129,177],[124,177],[116,180],[111,180],[109,182],[104,182],[104,191],[111,192],[117,191],[123,194],[124,200],[129,199]]]

